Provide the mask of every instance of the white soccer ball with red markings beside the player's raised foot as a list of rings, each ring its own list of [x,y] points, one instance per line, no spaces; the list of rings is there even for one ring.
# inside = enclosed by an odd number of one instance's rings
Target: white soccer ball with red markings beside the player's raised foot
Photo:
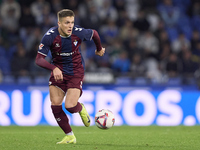
[[[114,114],[108,109],[99,110],[95,115],[95,124],[100,129],[109,129],[114,123]]]

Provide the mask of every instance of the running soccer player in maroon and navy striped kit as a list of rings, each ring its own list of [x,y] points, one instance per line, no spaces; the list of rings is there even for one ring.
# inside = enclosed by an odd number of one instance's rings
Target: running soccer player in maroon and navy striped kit
[[[50,28],[43,36],[36,56],[36,64],[51,70],[49,92],[53,115],[66,136],[57,144],[76,143],[76,137],[69,125],[67,115],[62,109],[65,97],[65,108],[70,113],[79,113],[86,127],[90,126],[90,116],[83,104],[79,103],[82,94],[84,61],[79,49],[82,41],[93,40],[95,54],[103,56],[100,37],[96,30],[84,29],[74,25],[74,12],[63,9],[57,13],[58,26]],[[48,51],[52,54],[52,63],[45,60]]]

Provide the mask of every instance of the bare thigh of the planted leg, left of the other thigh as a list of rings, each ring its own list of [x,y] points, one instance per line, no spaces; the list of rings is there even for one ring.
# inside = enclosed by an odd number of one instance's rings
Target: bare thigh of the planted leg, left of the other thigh
[[[52,105],[62,105],[65,93],[58,87],[49,86],[50,100]]]

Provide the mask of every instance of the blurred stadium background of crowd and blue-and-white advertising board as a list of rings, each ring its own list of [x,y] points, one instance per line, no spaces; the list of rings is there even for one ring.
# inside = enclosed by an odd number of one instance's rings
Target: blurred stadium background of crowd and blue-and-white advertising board
[[[34,59],[63,8],[106,48],[98,57],[92,42],[81,46],[80,100],[91,116],[110,108],[117,125],[200,123],[199,0],[0,0],[0,125],[55,125],[46,108],[50,72]]]

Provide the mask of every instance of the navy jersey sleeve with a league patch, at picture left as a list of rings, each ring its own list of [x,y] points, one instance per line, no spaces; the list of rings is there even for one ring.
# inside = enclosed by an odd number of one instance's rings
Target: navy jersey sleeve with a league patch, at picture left
[[[51,47],[51,36],[49,35],[44,35],[42,40],[41,40],[41,43],[39,45],[39,48],[38,48],[38,53],[44,55],[44,56],[47,56],[49,50],[50,50],[50,47]]]

